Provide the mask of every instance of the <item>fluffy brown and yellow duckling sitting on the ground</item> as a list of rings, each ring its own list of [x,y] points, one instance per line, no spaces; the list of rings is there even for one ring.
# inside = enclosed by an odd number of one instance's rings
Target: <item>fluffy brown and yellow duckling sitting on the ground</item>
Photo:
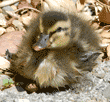
[[[85,21],[48,11],[30,23],[10,70],[40,88],[65,87],[92,71],[99,55],[99,38]]]

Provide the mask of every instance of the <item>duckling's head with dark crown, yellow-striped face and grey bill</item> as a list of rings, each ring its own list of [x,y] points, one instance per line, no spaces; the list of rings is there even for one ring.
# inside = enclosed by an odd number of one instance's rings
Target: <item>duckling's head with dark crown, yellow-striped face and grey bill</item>
[[[35,51],[45,48],[64,48],[70,43],[71,21],[62,12],[50,11],[39,17],[40,38],[33,45]]]

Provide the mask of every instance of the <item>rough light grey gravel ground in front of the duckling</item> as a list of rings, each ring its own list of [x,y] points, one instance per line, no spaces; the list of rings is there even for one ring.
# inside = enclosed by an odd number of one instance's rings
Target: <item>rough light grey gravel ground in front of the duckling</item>
[[[0,102],[110,102],[110,61],[99,63],[79,81],[80,84],[71,85],[73,89],[54,93],[28,94],[13,86],[0,91]]]

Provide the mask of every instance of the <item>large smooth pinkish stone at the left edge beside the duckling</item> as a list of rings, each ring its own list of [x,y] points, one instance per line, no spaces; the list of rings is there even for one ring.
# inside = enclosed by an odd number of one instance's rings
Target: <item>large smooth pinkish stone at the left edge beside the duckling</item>
[[[22,41],[23,31],[14,31],[5,33],[0,37],[0,56],[5,56],[6,49],[11,53],[16,53],[19,44]]]

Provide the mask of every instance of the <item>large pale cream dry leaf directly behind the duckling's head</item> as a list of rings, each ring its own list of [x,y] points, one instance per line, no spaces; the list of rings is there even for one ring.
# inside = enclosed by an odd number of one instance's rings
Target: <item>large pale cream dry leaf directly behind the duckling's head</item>
[[[75,3],[72,0],[45,0],[41,2],[42,11],[57,10],[64,12],[76,12]]]

